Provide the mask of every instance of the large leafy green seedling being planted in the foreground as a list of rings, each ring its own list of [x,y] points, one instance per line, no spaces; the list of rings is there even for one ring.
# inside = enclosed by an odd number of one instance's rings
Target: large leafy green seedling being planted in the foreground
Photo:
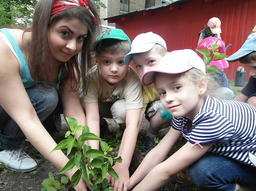
[[[66,172],[76,166],[78,170],[71,178],[73,186],[79,183],[83,175],[88,184],[92,185],[94,191],[111,191],[111,189],[107,187],[108,179],[104,177],[108,173],[113,178],[118,179],[118,175],[111,166],[113,162],[121,163],[121,157],[108,157],[107,154],[109,151],[112,151],[112,148],[109,147],[106,142],[102,141],[97,135],[90,133],[87,125],[78,126],[76,119],[68,117],[66,117],[66,119],[71,131],[67,131],[65,134],[67,139],[62,140],[53,151],[67,149],[68,155],[74,147],[77,149],[77,152],[69,159],[58,174]],[[75,133],[77,131],[82,131],[82,134],[76,140]],[[97,149],[92,149],[91,146],[87,146],[85,144],[87,140],[99,140],[103,153]],[[89,160],[90,158],[92,159],[91,161]]]

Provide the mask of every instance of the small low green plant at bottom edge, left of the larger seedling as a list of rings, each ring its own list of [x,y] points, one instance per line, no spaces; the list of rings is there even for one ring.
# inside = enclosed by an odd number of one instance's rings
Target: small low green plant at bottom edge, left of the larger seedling
[[[68,183],[68,178],[66,176],[61,177],[61,182],[54,180],[54,176],[49,172],[49,178],[44,179],[42,185],[44,188],[41,191],[65,191],[64,186]]]

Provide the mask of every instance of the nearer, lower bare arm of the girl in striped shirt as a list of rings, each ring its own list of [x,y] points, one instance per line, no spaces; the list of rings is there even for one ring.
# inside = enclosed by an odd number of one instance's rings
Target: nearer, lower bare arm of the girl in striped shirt
[[[161,141],[162,142],[162,141]],[[160,143],[161,143],[160,142]],[[176,153],[170,156],[167,160],[155,166],[145,178],[138,184],[133,191],[155,191],[164,185],[170,178],[184,168],[194,163],[197,159],[206,153],[210,145],[203,145],[201,148],[198,145],[192,146],[187,142]],[[163,150],[163,149],[161,149]],[[156,176],[157,175],[157,176]]]

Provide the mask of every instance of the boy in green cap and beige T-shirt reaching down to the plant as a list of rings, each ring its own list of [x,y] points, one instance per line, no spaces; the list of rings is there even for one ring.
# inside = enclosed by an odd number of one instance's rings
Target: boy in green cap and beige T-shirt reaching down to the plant
[[[86,121],[90,131],[100,135],[100,126],[113,118],[125,130],[118,156],[122,163],[113,167],[119,180],[111,178],[114,190],[127,189],[130,165],[137,136],[142,107],[141,81],[135,70],[124,64],[130,51],[130,39],[120,29],[107,29],[96,39],[93,50],[96,65],[90,70],[90,87],[83,92]],[[88,141],[88,145],[99,149],[99,141]]]

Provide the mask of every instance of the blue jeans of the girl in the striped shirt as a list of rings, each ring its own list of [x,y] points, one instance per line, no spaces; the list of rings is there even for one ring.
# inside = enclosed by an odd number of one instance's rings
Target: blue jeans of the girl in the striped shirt
[[[234,191],[236,183],[256,187],[256,167],[215,153],[205,153],[188,171],[197,187],[215,191]]]

